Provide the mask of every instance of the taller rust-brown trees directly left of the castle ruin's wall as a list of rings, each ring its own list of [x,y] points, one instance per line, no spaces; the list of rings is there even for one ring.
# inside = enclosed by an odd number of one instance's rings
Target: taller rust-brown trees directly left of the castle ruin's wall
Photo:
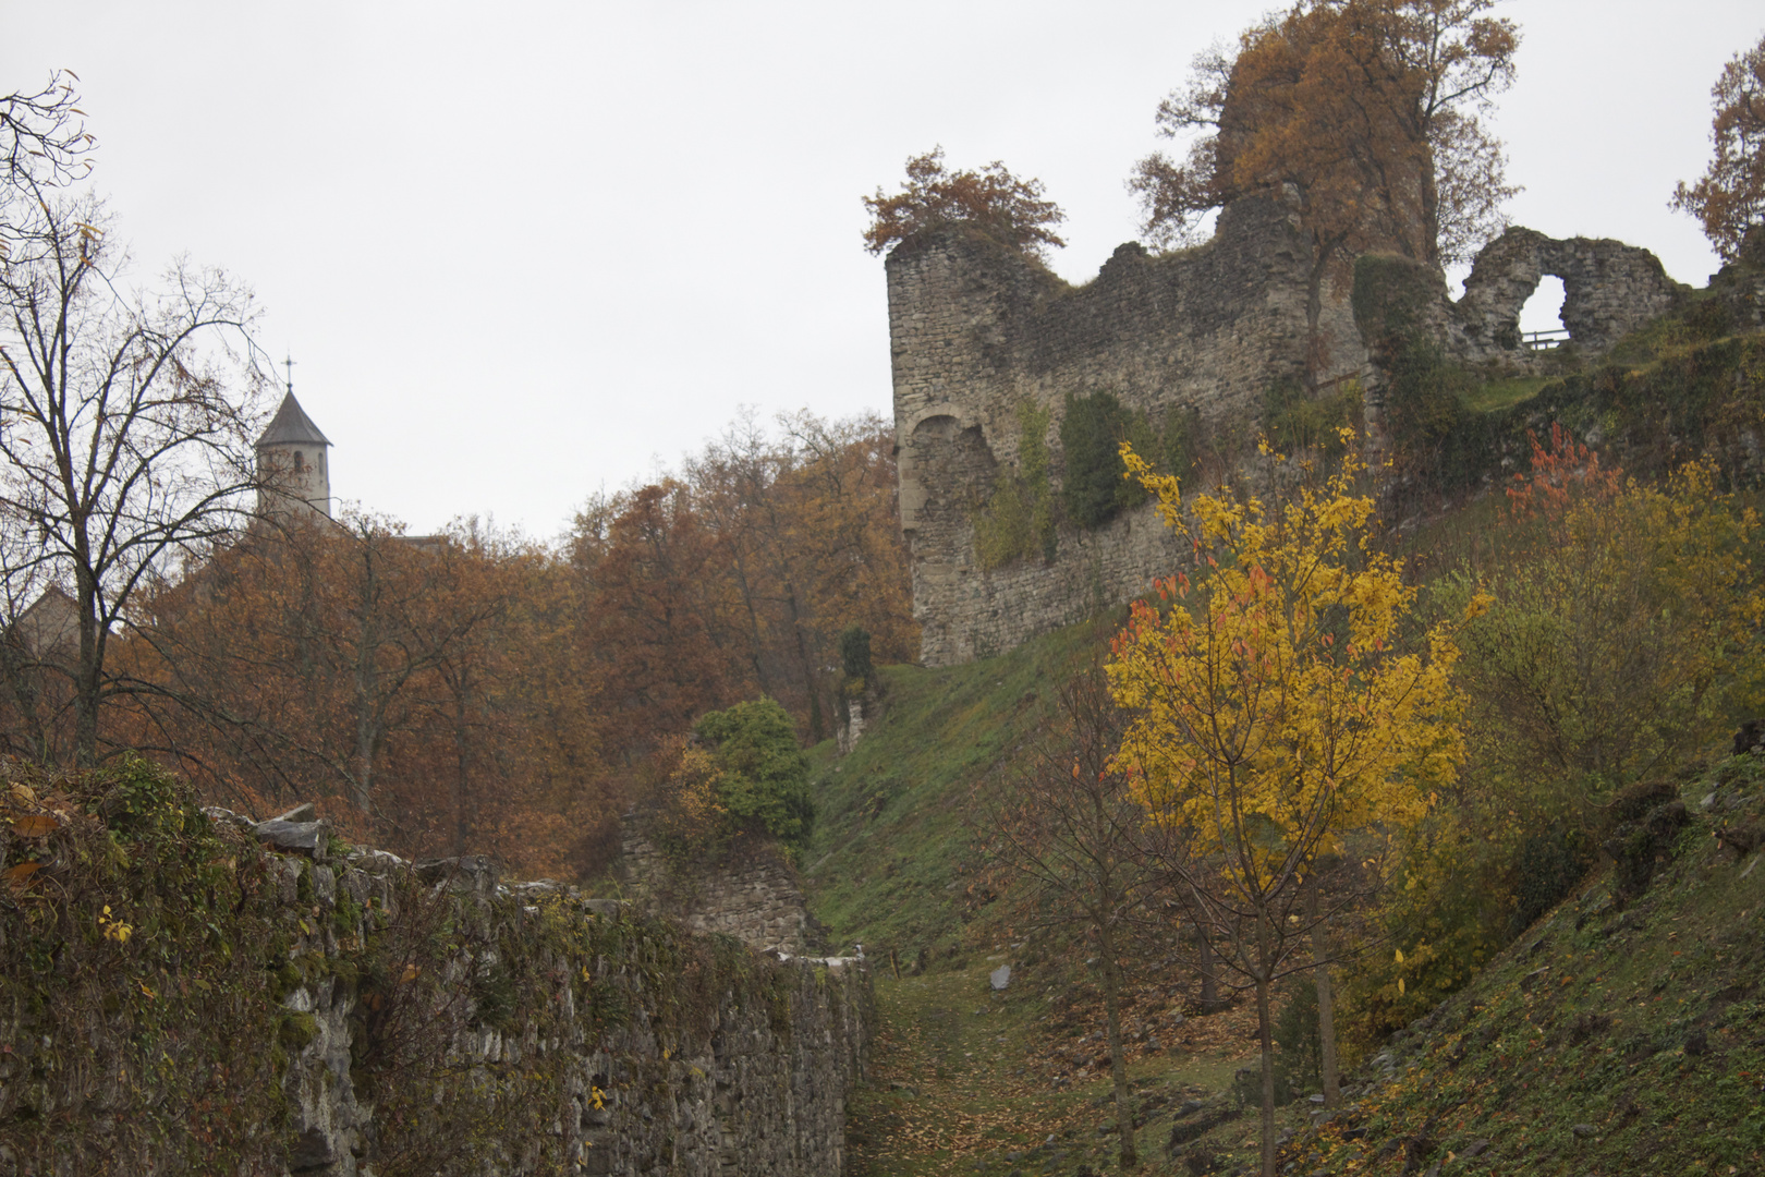
[[[627,766],[757,695],[826,738],[845,626],[865,626],[882,662],[913,656],[891,432],[875,416],[782,425],[773,441],[741,418],[681,478],[577,517],[582,641],[604,667],[595,706]]]

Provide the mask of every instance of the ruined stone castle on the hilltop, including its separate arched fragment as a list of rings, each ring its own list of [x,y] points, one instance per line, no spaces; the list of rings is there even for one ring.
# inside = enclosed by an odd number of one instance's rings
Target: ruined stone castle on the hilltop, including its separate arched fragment
[[[1437,272],[1393,261],[1419,282],[1414,314],[1446,355],[1518,372],[1537,365],[1520,309],[1544,275],[1564,282],[1562,323],[1583,355],[1686,291],[1645,249],[1521,228],[1477,256],[1456,302]],[[1267,198],[1221,210],[1213,240],[1195,249],[1121,245],[1084,286],[964,226],[888,256],[900,514],[925,665],[1011,649],[1137,596],[1181,559],[1151,506],[1093,529],[1057,521],[1040,554],[983,559],[978,519],[1003,478],[1024,475],[1025,445],[1038,445],[1022,422],[1047,422],[1052,494],[1066,473],[1059,434],[1071,397],[1107,392],[1151,422],[1175,411],[1202,436],[1253,438],[1269,392],[1304,383],[1310,365],[1310,386],[1363,381],[1377,429],[1375,334],[1357,321],[1348,282],[1326,282],[1313,335],[1310,268],[1297,214]]]

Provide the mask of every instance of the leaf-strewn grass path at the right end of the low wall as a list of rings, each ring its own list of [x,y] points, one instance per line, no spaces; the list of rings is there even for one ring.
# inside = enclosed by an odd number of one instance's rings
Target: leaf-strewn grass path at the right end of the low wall
[[[875,974],[870,1078],[851,1103],[854,1177],[1119,1173],[1101,1009],[1057,1008],[1045,971],[988,985],[1008,955],[895,979]],[[1050,1001],[1055,999],[1055,1001]],[[1094,1018],[1089,1015],[1096,1015]],[[1138,1173],[1230,1173],[1257,1163],[1255,1108],[1232,1094],[1257,1066],[1250,1002],[1160,1023],[1130,1052]],[[1308,1117],[1283,1108],[1287,1129]],[[1200,1163],[1202,1168],[1191,1168]]]

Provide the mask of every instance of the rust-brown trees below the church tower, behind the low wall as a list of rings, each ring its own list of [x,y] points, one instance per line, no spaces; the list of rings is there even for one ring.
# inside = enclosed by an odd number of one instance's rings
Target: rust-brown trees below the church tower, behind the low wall
[[[259,531],[152,602],[136,743],[207,792],[327,813],[408,854],[560,873],[611,831],[561,570],[459,526]]]

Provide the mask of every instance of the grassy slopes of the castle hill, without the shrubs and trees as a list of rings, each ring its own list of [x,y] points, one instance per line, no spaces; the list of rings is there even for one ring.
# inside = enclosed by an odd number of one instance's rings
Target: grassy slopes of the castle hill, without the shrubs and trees
[[[1502,496],[1490,491],[1551,420],[1603,438],[1611,462],[1645,478],[1712,452],[1756,498],[1765,335],[1733,326],[1694,300],[1597,364],[1560,356],[1550,376],[1417,369],[1410,392],[1431,406],[1417,420],[1451,422],[1426,438],[1447,491],[1430,501],[1447,514],[1412,515],[1403,536],[1417,574],[1500,549]],[[882,962],[875,1082],[852,1106],[858,1173],[1115,1168],[1089,953],[1025,935],[988,889],[999,879],[974,828],[976,785],[1010,778],[1052,720],[1054,685],[1115,623],[965,667],[888,667],[884,709],[856,752],[819,750],[810,905],[840,948],[861,941]],[[1652,789],[1592,810],[1583,833],[1604,840],[1594,872],[1472,983],[1373,1046],[1347,1106],[1280,1112],[1281,1172],[1765,1173],[1765,755]],[[987,983],[1001,963],[1013,971],[1003,993]],[[1253,1172],[1248,1002],[1200,1016],[1175,955],[1140,949],[1131,963],[1142,1172]]]

